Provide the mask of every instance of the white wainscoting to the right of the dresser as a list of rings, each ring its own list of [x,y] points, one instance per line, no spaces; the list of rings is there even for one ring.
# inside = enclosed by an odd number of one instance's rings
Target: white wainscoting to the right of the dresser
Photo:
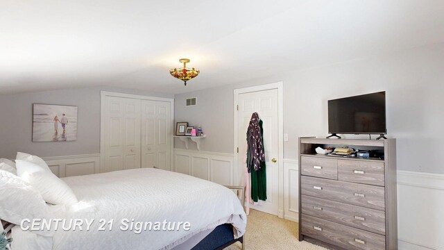
[[[398,170],[400,250],[444,249],[444,174]]]

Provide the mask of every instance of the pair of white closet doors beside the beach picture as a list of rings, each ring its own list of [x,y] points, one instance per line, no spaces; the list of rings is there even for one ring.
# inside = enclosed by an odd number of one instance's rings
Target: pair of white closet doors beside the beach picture
[[[171,169],[171,103],[105,97],[105,164],[101,172]]]

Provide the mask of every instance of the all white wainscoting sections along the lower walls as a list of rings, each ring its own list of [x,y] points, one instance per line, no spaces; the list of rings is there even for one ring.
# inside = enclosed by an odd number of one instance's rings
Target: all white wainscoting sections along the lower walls
[[[175,149],[174,170],[233,185],[231,153]],[[44,158],[59,177],[99,173],[99,153]],[[284,159],[284,218],[298,221],[298,160]],[[444,174],[398,170],[400,250],[444,249]]]

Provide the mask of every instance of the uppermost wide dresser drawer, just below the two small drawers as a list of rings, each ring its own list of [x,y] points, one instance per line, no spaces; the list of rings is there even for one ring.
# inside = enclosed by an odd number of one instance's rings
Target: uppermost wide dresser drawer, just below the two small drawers
[[[384,210],[384,188],[301,176],[300,192],[311,197],[339,201],[366,208]]]

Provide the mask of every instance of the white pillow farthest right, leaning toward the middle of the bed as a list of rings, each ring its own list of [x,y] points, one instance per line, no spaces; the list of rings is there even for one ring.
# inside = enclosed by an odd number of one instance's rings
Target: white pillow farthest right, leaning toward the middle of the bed
[[[17,174],[42,194],[47,203],[69,205],[77,203],[74,192],[51,171],[26,160],[15,160]]]

